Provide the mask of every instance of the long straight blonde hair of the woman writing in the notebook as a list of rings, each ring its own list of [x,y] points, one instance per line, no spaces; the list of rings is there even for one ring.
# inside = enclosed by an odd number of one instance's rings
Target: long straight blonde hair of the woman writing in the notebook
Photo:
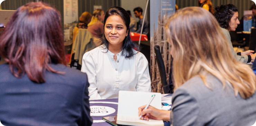
[[[209,74],[229,85],[243,98],[255,93],[256,76],[247,65],[235,60],[219,23],[209,11],[200,7],[178,10],[165,25],[173,51],[175,89],[194,76],[206,81]],[[174,90],[175,90],[174,89]]]

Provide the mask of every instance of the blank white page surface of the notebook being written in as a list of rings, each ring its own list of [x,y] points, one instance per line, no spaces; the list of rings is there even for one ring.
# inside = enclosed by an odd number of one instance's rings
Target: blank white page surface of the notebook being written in
[[[119,91],[117,115],[139,116],[138,108],[147,105],[152,95],[156,95],[150,106],[161,109],[161,93]]]

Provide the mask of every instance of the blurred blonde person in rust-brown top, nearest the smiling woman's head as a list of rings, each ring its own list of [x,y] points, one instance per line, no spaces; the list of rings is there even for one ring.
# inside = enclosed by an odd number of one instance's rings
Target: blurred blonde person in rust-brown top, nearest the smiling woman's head
[[[104,24],[102,21],[104,21],[104,17],[105,13],[102,9],[95,9],[93,11],[91,22],[88,24],[88,30],[92,33],[93,42],[96,46],[102,44],[101,36],[104,33]]]

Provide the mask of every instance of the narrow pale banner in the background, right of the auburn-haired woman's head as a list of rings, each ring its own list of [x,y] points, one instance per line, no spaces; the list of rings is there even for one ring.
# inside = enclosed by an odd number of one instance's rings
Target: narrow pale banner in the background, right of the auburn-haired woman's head
[[[78,0],[64,0],[64,44],[66,54],[71,53],[73,29],[78,20]]]

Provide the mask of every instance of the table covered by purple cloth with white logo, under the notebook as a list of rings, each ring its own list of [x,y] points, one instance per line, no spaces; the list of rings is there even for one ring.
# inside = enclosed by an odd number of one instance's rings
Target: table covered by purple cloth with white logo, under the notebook
[[[90,100],[89,102],[91,108],[91,116],[93,119],[92,126],[112,126],[102,120],[102,117],[117,115],[118,98]],[[95,113],[100,113],[101,116],[93,116]],[[170,126],[170,123],[164,121],[164,126]]]

